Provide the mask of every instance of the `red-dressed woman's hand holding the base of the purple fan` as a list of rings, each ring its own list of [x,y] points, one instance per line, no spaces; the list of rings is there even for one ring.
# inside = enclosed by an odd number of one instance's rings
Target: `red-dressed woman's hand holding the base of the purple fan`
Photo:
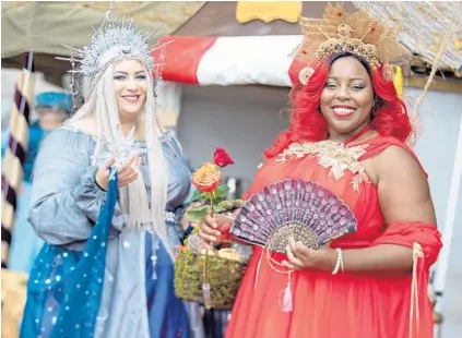
[[[287,245],[288,261],[282,262],[293,270],[323,270],[332,271],[336,262],[336,252],[329,244],[319,250],[312,250],[301,242],[289,239]]]

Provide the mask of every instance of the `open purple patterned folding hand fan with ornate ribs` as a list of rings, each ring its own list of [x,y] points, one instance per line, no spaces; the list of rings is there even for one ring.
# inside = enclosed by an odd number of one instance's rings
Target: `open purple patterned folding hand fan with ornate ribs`
[[[317,250],[356,230],[355,215],[330,190],[291,179],[252,194],[230,232],[245,242],[285,253],[289,238]]]

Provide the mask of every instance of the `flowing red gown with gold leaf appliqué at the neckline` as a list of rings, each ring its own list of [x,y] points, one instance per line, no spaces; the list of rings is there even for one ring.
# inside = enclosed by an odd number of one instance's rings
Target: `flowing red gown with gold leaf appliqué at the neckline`
[[[404,148],[415,157],[414,153],[393,137],[356,142],[354,146],[345,145],[343,152],[332,144],[327,141],[289,147],[280,157],[268,160],[259,169],[247,196],[282,179],[315,181],[340,196],[358,220],[357,231],[333,241],[331,248],[414,245],[415,271],[400,277],[387,273],[294,271],[293,312],[283,312],[281,302],[287,275],[275,271],[263,250],[254,246],[226,338],[433,337],[428,270],[441,249],[440,234],[434,225],[419,222],[383,227],[377,188],[360,166],[360,160],[390,145]],[[276,261],[286,258],[277,253],[271,256]]]

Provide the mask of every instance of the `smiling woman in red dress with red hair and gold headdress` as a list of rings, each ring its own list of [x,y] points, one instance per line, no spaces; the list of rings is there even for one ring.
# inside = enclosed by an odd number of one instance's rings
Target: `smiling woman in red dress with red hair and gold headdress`
[[[265,152],[246,194],[283,179],[317,182],[350,206],[357,231],[316,251],[293,241],[286,255],[254,246],[227,338],[433,337],[428,271],[441,242],[427,177],[404,144],[412,126],[382,63],[387,39],[353,44],[366,28],[390,31],[358,17],[366,16],[328,10],[319,27],[332,32],[325,27],[333,22],[337,35],[317,36],[332,48],[318,44],[318,62],[300,72],[289,129]],[[317,22],[304,20],[301,61],[316,45],[309,29]],[[222,222],[206,218],[202,239],[215,241]]]

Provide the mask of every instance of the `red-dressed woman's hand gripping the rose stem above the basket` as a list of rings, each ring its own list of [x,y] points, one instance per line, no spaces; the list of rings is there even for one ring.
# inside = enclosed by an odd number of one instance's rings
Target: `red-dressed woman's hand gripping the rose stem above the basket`
[[[234,218],[228,216],[205,216],[200,225],[199,237],[209,245],[211,243],[223,242],[229,237],[229,229],[233,222]]]

